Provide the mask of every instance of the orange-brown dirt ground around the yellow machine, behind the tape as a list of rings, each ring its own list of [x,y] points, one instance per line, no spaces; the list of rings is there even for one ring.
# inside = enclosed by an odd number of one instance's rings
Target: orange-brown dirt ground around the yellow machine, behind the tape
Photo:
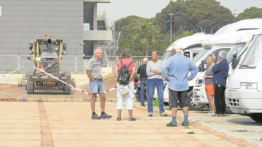
[[[104,76],[105,90],[116,86],[116,77],[113,73]],[[77,86],[78,88],[90,92],[89,84]],[[26,98],[89,98],[86,94],[72,89],[71,95],[63,95],[63,91],[54,93],[40,93],[26,94]],[[0,84],[0,101],[20,101],[22,99],[23,88],[15,84]],[[105,94],[107,98],[116,98],[116,90]]]

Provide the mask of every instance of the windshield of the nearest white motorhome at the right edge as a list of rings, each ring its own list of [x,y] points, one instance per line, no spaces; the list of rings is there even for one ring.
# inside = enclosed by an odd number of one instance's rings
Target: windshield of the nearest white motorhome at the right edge
[[[247,55],[244,57],[240,68],[256,68],[262,59],[262,34],[255,37],[249,47]]]

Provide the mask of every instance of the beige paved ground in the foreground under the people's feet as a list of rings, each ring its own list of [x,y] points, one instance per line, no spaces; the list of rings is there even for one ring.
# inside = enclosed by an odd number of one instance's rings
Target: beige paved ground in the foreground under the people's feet
[[[88,147],[88,146],[239,146],[197,127],[166,127],[171,117],[155,113],[147,117],[146,108],[135,106],[128,121],[116,121],[116,103],[106,103],[111,119],[91,120],[90,102],[1,102],[0,147]],[[100,114],[99,103],[96,112]],[[182,114],[180,111],[179,113]],[[188,134],[188,133],[194,134]]]

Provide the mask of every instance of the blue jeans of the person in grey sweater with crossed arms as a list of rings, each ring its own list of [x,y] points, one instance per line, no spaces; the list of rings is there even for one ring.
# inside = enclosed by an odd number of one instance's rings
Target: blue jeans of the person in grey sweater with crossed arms
[[[165,112],[164,110],[164,98],[163,98],[163,94],[164,94],[164,83],[163,83],[163,79],[148,79],[147,80],[147,84],[148,84],[148,97],[147,97],[147,111],[148,113],[153,113],[153,96],[155,93],[155,87],[157,87],[157,97],[159,100],[159,112],[163,113]]]

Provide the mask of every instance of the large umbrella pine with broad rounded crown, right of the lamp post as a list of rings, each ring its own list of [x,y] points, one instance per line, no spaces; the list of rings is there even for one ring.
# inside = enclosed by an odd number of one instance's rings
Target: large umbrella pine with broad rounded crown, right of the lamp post
[[[215,0],[187,0],[188,24],[195,32],[213,34],[215,27],[218,29],[226,24],[233,23],[233,15],[228,8],[220,5]]]

